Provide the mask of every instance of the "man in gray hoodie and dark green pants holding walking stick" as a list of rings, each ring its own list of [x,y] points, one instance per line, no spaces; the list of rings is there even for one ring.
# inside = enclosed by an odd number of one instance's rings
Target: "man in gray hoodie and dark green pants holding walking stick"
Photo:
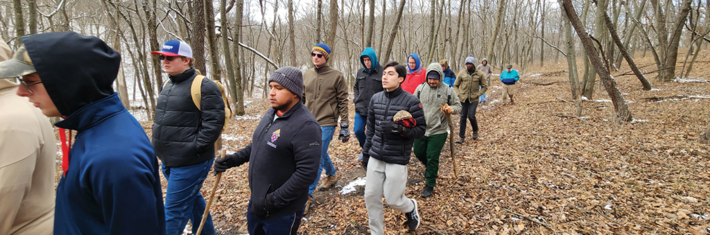
[[[444,76],[442,66],[432,63],[427,67],[427,83],[420,84],[414,92],[415,96],[422,102],[424,116],[427,120],[427,131],[424,137],[414,141],[414,155],[427,168],[426,185],[422,191],[422,197],[432,197],[434,187],[437,186],[439,177],[439,155],[446,143],[447,114],[458,114],[461,111],[461,102],[452,87],[441,82]],[[444,106],[442,110],[441,106]],[[444,114],[446,112],[446,114]]]

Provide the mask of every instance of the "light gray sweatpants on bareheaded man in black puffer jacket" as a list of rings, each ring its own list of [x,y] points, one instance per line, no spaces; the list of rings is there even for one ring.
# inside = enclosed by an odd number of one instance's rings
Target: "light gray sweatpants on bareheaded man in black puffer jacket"
[[[383,222],[382,195],[387,204],[398,212],[407,213],[414,210],[414,202],[404,195],[407,186],[407,166],[385,163],[370,158],[367,165],[367,180],[365,183],[365,205],[370,217],[370,233],[381,235],[385,233]]]

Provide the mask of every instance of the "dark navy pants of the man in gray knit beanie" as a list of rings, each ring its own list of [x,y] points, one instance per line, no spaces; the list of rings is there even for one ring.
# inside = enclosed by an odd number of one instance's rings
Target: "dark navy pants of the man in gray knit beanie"
[[[284,217],[261,219],[251,213],[251,202],[246,211],[246,229],[251,235],[295,235],[303,217],[303,210],[300,210]]]

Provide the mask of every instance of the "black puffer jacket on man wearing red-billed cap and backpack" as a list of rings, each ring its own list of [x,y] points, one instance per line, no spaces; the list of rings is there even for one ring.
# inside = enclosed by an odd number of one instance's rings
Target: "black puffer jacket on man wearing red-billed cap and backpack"
[[[153,148],[160,161],[169,167],[202,163],[214,157],[214,141],[224,126],[224,101],[217,84],[202,80],[201,109],[190,97],[197,73],[190,68],[170,75],[155,106]]]

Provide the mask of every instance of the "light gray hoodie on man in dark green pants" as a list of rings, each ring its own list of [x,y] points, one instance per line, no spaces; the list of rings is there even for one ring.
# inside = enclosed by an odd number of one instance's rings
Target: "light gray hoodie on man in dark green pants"
[[[433,62],[427,67],[427,72],[439,72],[439,77],[444,77],[442,66],[437,62]],[[449,87],[442,80],[439,80],[437,87],[432,87],[428,82],[420,84],[414,92],[414,95],[422,102],[424,109],[424,117],[427,120],[427,131],[424,136],[432,136],[440,133],[447,133],[448,123],[446,116],[441,111],[439,104],[449,104],[454,108],[453,114],[458,114],[461,111],[461,102],[458,99],[456,91]]]

